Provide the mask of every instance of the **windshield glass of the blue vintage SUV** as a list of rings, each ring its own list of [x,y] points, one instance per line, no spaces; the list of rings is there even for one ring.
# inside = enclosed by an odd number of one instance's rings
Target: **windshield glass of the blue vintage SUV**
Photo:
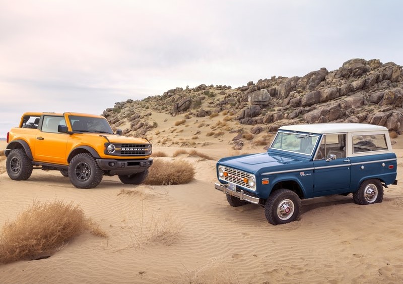
[[[279,131],[270,148],[304,155],[312,155],[318,138],[319,135],[317,134]]]

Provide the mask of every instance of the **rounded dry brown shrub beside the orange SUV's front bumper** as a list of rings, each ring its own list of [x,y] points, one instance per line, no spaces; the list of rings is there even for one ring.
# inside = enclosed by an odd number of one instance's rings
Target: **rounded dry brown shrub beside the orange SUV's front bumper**
[[[182,185],[193,180],[194,174],[194,167],[188,161],[164,161],[155,159],[144,184]]]

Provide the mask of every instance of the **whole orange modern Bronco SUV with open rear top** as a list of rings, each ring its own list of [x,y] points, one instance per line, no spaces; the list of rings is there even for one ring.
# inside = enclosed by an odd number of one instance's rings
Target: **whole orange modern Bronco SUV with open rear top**
[[[104,117],[83,113],[26,112],[7,143],[7,173],[16,181],[40,168],[60,171],[77,188],[94,188],[104,175],[137,185],[153,163],[149,140],[114,134]]]

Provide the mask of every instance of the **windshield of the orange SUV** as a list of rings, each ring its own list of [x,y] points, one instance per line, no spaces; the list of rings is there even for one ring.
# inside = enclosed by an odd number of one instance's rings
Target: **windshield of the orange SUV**
[[[70,116],[69,120],[73,131],[113,134],[112,128],[104,118]]]

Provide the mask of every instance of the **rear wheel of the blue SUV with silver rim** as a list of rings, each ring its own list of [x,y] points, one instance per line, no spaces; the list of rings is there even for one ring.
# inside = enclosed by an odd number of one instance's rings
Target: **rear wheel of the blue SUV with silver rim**
[[[353,193],[353,201],[356,204],[368,205],[380,203],[383,199],[383,186],[377,179],[364,181],[360,188]]]

